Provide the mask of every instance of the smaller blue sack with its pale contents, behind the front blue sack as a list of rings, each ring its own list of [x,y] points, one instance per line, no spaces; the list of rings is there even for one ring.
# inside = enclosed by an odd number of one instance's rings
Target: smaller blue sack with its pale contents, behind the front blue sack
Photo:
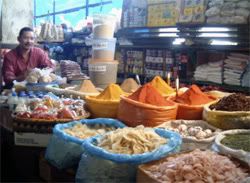
[[[57,124],[53,129],[45,158],[59,169],[77,165],[84,149],[81,144],[89,137],[123,128],[118,120],[109,118],[84,119]]]

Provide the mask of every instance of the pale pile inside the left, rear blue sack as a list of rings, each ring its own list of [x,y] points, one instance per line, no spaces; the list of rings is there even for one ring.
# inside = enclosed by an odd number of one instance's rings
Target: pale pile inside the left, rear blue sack
[[[80,139],[86,139],[88,137],[101,135],[115,129],[115,127],[102,124],[86,125],[79,123],[74,125],[72,128],[64,129],[64,132]]]

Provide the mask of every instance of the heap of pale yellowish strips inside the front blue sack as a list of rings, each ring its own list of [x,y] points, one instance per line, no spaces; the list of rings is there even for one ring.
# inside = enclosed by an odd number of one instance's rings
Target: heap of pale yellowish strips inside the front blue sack
[[[142,154],[151,152],[167,139],[159,136],[151,128],[137,126],[136,128],[122,128],[106,134],[98,142],[98,146],[117,154]]]

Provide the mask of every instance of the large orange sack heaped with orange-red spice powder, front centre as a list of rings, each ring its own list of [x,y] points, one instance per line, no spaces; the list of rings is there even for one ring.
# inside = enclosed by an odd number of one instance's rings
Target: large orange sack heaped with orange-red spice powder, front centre
[[[165,99],[151,84],[145,84],[129,97],[121,97],[118,119],[128,126],[154,127],[176,119],[177,105]]]

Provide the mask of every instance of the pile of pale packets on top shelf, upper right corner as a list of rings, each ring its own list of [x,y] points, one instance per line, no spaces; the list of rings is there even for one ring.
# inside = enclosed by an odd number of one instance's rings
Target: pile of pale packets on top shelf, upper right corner
[[[207,23],[246,24],[249,18],[248,1],[210,0],[206,10]]]

